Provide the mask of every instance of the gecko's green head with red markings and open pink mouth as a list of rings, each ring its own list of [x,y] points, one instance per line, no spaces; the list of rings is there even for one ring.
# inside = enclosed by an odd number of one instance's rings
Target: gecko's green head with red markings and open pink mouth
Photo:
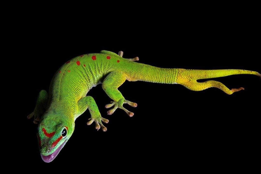
[[[74,130],[74,121],[72,121],[73,125],[68,125],[70,122],[66,121],[68,118],[65,119],[62,116],[59,116],[59,119],[52,118],[54,117],[43,116],[38,127],[39,149],[44,162],[51,162],[55,159]]]

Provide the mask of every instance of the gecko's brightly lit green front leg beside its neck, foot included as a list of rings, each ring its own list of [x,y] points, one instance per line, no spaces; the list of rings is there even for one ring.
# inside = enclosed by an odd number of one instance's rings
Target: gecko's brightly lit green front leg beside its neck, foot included
[[[89,109],[89,111],[91,113],[91,118],[88,119],[90,121],[87,122],[87,125],[91,125],[94,121],[96,123],[95,128],[97,129],[97,131],[100,129],[101,126],[102,126],[102,130],[104,132],[107,131],[107,128],[102,124],[102,121],[104,123],[108,123],[109,120],[103,118],[100,115],[98,106],[91,96],[86,96],[86,97],[81,98],[78,101],[78,107],[79,107],[79,114],[78,115],[81,115],[82,113],[84,113],[84,111]]]

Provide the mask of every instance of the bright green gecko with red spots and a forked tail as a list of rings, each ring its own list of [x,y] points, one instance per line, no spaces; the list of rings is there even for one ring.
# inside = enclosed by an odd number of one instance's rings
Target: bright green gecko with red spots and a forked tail
[[[193,91],[201,91],[210,87],[221,89],[227,94],[240,91],[244,88],[228,89],[218,81],[197,82],[199,79],[223,77],[234,74],[253,74],[261,77],[256,71],[249,70],[191,70],[180,68],[157,68],[137,63],[139,58],[122,58],[119,54],[110,51],[84,54],[67,61],[62,65],[51,80],[49,93],[41,90],[34,111],[27,116],[34,117],[33,122],[38,124],[38,144],[41,158],[44,162],[51,162],[72,136],[77,117],[89,109],[90,121],[87,125],[96,123],[97,130],[107,128],[103,118],[91,96],[86,96],[92,87],[102,84],[105,93],[113,100],[105,108],[111,108],[107,114],[111,115],[117,108],[123,109],[130,117],[134,113],[123,107],[124,103],[137,107],[137,103],[126,100],[118,87],[125,80],[146,81],[154,83],[181,84]]]

